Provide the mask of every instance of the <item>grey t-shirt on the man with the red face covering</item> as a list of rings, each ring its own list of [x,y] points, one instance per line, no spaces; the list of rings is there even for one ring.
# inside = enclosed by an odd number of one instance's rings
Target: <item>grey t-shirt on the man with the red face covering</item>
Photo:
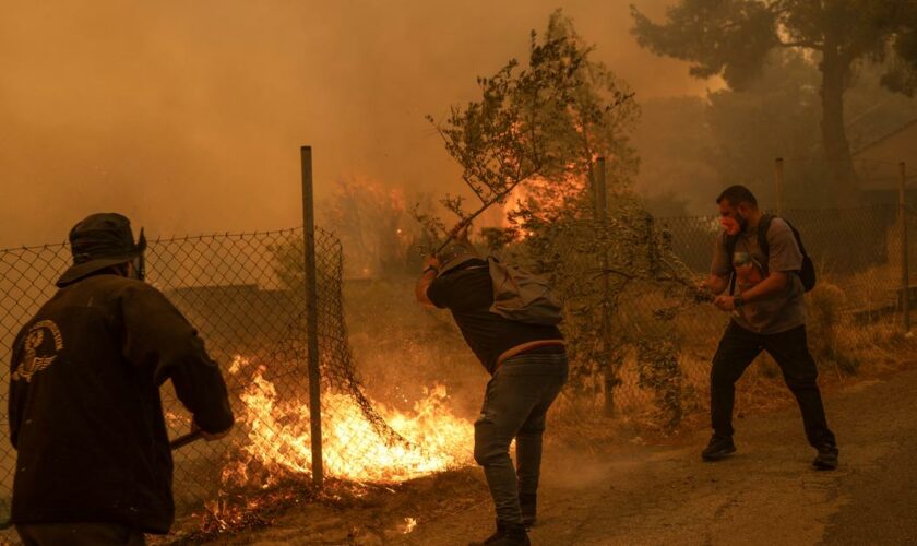
[[[771,271],[797,272],[802,268],[802,252],[796,245],[793,230],[781,218],[771,221],[767,228],[770,256],[758,244],[758,228],[743,232],[736,241],[733,256],[736,269],[736,294],[741,294],[766,278]],[[711,273],[729,277],[733,268],[726,251],[726,233],[716,237]],[[789,275],[786,287],[767,299],[746,304],[733,312],[738,325],[761,334],[785,332],[806,323],[805,292],[799,275]]]

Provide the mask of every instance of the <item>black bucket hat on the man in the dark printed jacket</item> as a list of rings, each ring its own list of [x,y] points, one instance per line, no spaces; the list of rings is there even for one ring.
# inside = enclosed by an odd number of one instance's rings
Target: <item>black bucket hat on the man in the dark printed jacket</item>
[[[140,230],[134,242],[131,221],[114,212],[87,216],[70,230],[73,265],[57,282],[66,286],[98,270],[126,263],[146,250],[146,238]]]

